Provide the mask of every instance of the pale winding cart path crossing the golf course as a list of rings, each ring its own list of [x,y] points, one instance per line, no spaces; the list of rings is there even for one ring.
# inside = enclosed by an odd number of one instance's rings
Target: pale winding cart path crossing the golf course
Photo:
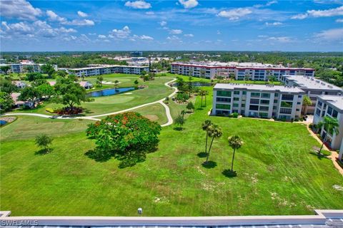
[[[169,83],[172,83],[172,82],[174,82],[176,80],[177,80],[177,78],[174,78],[172,81],[168,81],[168,82],[164,83],[164,86],[167,86],[167,87],[170,87],[170,88],[174,89],[174,92],[168,95],[169,98],[172,98],[172,96],[174,96],[177,93],[177,88],[175,88],[173,86],[169,86]],[[168,118],[168,122],[161,125],[162,127],[165,127],[165,126],[168,126],[168,125],[172,125],[173,118],[172,118],[172,115],[170,113],[170,109],[169,109],[168,105],[166,105],[163,102],[164,99],[165,98],[162,98],[162,99],[156,100],[154,102],[145,103],[143,105],[137,105],[137,106],[134,106],[132,108],[126,108],[124,110],[119,110],[119,111],[116,111],[114,113],[104,113],[104,114],[100,114],[100,115],[75,116],[75,117],[67,116],[67,115],[52,115],[51,116],[51,115],[44,115],[44,114],[38,114],[38,113],[6,113],[4,115],[31,115],[31,116],[41,117],[41,118],[63,119],[63,120],[65,120],[65,119],[100,120],[98,118],[101,117],[101,116],[115,115],[115,114],[118,114],[118,113],[125,113],[125,112],[131,111],[131,110],[135,110],[137,108],[142,108],[142,107],[145,107],[145,106],[148,106],[148,105],[153,105],[153,104],[159,103],[166,110],[166,118]]]

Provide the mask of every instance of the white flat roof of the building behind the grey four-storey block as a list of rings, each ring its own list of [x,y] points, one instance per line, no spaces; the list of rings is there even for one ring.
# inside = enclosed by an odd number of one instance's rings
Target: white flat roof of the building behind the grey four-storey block
[[[297,83],[300,88],[311,88],[311,89],[325,89],[325,90],[342,90],[338,86],[334,86],[326,81],[322,81],[318,78],[309,77],[309,76],[289,76],[284,75],[289,81]]]

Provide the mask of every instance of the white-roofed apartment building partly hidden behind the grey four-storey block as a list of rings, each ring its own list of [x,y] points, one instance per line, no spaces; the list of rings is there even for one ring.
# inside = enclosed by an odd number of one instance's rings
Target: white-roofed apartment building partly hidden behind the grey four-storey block
[[[309,96],[312,105],[309,105],[307,108],[307,114],[314,114],[314,108],[319,95],[343,95],[342,88],[314,77],[284,75],[281,77],[281,81],[286,86],[297,86],[301,88]]]

